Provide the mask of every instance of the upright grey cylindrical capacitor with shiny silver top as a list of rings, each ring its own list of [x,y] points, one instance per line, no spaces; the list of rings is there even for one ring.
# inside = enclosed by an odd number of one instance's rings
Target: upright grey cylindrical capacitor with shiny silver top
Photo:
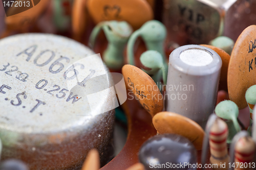
[[[197,122],[203,129],[217,100],[222,60],[210,48],[184,45],[169,56],[166,111]]]

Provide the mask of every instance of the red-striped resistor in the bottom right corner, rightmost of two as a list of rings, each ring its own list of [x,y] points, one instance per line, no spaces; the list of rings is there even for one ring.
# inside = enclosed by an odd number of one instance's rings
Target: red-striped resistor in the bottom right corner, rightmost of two
[[[242,137],[236,143],[234,148],[234,169],[253,169],[252,161],[254,159],[255,144],[250,136]]]

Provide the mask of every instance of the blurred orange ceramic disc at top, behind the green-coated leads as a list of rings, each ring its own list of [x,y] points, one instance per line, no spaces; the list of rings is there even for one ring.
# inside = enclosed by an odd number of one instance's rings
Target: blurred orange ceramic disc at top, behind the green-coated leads
[[[153,10],[145,0],[88,0],[88,11],[96,23],[104,20],[127,21],[134,30],[153,19]]]

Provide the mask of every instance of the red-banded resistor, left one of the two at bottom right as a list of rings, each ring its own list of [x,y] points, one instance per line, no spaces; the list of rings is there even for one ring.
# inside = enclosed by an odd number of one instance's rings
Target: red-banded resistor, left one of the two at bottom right
[[[209,133],[209,145],[210,145],[210,163],[217,164],[218,167],[213,169],[227,169],[229,156],[227,152],[227,124],[220,118],[215,120]],[[223,166],[225,164],[225,167]],[[221,167],[222,165],[222,167]]]

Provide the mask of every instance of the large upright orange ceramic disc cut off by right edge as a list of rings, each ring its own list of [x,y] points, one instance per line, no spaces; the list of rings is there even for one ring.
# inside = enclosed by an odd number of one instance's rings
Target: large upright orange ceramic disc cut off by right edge
[[[245,100],[246,90],[256,84],[256,26],[247,27],[234,44],[231,53],[227,86],[231,101],[239,109],[247,106]]]

